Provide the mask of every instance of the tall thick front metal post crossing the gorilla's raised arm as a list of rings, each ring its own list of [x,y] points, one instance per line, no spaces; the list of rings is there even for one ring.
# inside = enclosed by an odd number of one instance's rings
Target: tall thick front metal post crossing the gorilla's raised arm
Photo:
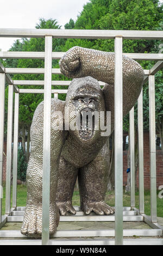
[[[122,36],[115,37],[115,245],[123,244]]]

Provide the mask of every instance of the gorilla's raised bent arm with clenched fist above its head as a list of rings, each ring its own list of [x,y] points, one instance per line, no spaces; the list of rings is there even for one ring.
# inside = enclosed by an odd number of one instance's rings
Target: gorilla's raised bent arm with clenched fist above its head
[[[91,76],[107,83],[103,87],[106,110],[111,111],[114,126],[115,54],[82,47],[72,47],[60,59],[62,74],[70,78]],[[123,55],[123,115],[134,106],[141,92],[144,72],[139,63]]]

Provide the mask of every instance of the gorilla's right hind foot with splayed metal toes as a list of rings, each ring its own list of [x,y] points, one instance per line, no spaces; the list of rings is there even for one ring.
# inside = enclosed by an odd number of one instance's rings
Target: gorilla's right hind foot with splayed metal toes
[[[91,211],[95,212],[97,215],[110,215],[115,212],[114,207],[109,206],[103,201],[84,203],[82,210],[86,215],[90,214]]]

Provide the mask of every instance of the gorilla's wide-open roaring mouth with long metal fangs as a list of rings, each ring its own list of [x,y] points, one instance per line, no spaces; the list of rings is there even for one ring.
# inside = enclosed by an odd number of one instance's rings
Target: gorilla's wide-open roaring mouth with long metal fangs
[[[85,108],[80,112],[80,130],[81,138],[87,140],[93,136],[95,130],[95,115],[91,108]]]

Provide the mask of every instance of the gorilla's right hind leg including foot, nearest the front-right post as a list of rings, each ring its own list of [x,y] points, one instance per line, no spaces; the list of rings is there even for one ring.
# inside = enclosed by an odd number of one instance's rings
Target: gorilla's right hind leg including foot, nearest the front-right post
[[[80,207],[85,214],[94,211],[98,215],[114,214],[114,208],[104,202],[108,184],[109,156],[106,145],[96,158],[80,168],[78,180]]]

